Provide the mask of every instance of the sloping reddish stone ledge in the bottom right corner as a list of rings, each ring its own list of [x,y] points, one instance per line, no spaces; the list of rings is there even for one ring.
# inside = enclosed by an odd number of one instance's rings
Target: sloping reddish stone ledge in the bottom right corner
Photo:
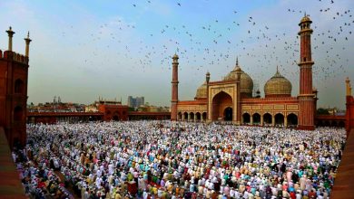
[[[354,129],[351,130],[339,165],[331,198],[354,198]]]

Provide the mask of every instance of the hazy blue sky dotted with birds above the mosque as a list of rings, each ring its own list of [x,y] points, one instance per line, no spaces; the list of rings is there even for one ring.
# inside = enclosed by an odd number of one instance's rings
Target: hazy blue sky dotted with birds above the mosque
[[[318,107],[345,109],[346,77],[354,80],[352,0],[1,0],[0,49],[13,27],[15,52],[30,32],[28,103],[93,103],[99,97],[144,96],[170,106],[172,55],[180,56],[179,100],[192,100],[210,71],[221,81],[235,66],[264,96],[280,73],[299,94],[300,39],[312,20],[313,86]]]

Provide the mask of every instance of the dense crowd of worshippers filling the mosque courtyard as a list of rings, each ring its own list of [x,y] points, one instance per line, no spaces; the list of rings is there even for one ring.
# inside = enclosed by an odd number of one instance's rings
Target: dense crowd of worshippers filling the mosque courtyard
[[[28,125],[27,139],[14,159],[36,198],[298,199],[329,198],[346,133],[125,121]]]

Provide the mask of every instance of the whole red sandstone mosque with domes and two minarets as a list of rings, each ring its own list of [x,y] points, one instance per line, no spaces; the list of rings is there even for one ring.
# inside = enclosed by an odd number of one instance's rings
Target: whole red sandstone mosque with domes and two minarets
[[[194,100],[178,100],[178,55],[172,57],[172,120],[230,121],[236,125],[281,126],[313,130],[316,115],[317,90],[312,87],[310,17],[300,20],[300,90],[291,96],[291,82],[280,71],[252,95],[253,81],[241,65],[236,65],[221,81],[205,82],[196,90]]]

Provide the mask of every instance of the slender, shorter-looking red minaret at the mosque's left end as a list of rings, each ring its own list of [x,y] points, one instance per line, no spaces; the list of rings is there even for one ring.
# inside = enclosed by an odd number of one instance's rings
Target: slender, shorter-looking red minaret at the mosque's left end
[[[171,120],[177,120],[178,103],[178,55],[172,57],[172,98],[171,98]]]

